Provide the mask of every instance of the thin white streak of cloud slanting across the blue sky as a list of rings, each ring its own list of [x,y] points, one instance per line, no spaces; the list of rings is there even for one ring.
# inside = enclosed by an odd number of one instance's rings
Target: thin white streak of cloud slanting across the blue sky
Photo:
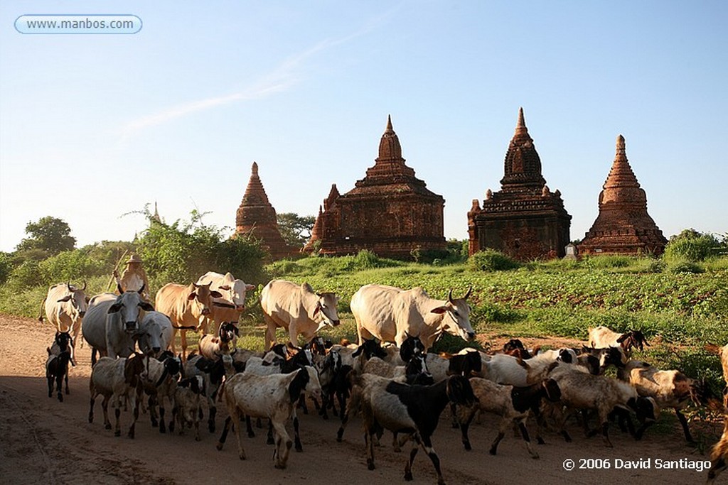
[[[345,44],[352,39],[363,36],[365,33],[372,31],[377,26],[381,25],[387,20],[395,9],[390,9],[389,12],[385,12],[383,15],[376,17],[369,21],[363,28],[351,33],[348,36],[341,37],[340,39],[325,39],[315,44],[313,47],[304,50],[288,59],[284,60],[277,68],[268,73],[266,76],[261,78],[253,86],[244,89],[241,92],[236,92],[232,95],[210,97],[205,100],[191,101],[190,103],[183,103],[176,105],[171,108],[167,108],[159,113],[154,113],[149,116],[143,116],[139,119],[130,121],[124,125],[122,129],[122,140],[128,140],[130,137],[143,129],[154,127],[159,124],[166,123],[173,119],[187,116],[191,113],[197,113],[198,111],[205,111],[210,108],[217,106],[229,105],[231,103],[238,103],[240,101],[259,100],[269,95],[273,95],[277,92],[285,91],[290,87],[293,87],[298,82],[298,76],[296,73],[301,69],[306,60],[309,57],[316,55],[325,49],[335,47],[341,44]]]

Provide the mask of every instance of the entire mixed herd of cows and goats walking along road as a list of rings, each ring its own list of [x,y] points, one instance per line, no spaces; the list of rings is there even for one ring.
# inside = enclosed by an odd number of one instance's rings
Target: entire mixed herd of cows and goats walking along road
[[[253,436],[251,418],[266,419],[269,444],[275,445],[274,466],[285,468],[291,446],[302,449],[296,409],[306,409],[307,396],[323,417],[328,417],[329,409],[340,414],[337,441],[341,441],[349,416],[361,415],[370,470],[375,466],[373,444],[384,430],[391,430],[395,450],[412,441],[405,480],[412,479],[412,462],[422,447],[432,460],[438,484],[444,481],[431,438],[448,405],[465,449],[470,449],[470,422],[478,412],[489,412],[502,417],[490,453],[496,454],[499,441],[513,427],[520,431],[533,458],[538,453],[526,428],[531,416],[537,423],[539,444],[546,428],[571,441],[565,423],[578,411],[587,436],[601,432],[604,444],[612,446],[610,420],[617,420],[622,430],[640,439],[660,409],[671,408],[686,440],[692,441],[681,409],[691,402],[716,407],[717,399],[703,382],[632,359],[633,348],[642,350],[649,345],[637,330],[620,334],[603,326],[590,329],[588,345],[580,349],[527,349],[520,340],[511,340],[496,353],[473,348],[454,355],[428,352],[443,332],[464,340],[475,337],[467,302],[470,290],[462,297],[454,297],[451,291],[447,300],[435,300],[422,288],[362,286],[350,304],[358,345],[332,345],[317,332],[327,325],[339,325],[339,297],[314,292],[306,283],[274,280],[264,286],[260,298],[266,321],[264,352],[238,348],[237,321],[250,289],[252,285],[230,273],[210,272],[194,284],[162,286],[151,305],[141,296],[143,288],[126,292],[119,288],[116,294],[88,299],[85,285],[52,286],[44,300],[48,321],[57,330],[47,349],[48,396],[52,397],[55,388],[63,401],[64,379],[68,393],[68,366],[76,364],[74,346],[82,332],[92,349],[89,422],[95,398],[103,396],[104,425],[111,429],[111,401],[116,436],[121,434],[122,407],[130,405],[131,438],[140,406],[149,406],[152,425],[160,431],[194,426],[199,440],[202,409],[208,409],[207,426],[213,433],[216,402],[222,401],[228,416],[218,449],[232,426],[244,460],[241,418],[245,418],[248,436]],[[278,327],[288,332],[287,342],[276,343]],[[207,333],[208,329],[213,332]],[[188,355],[189,330],[201,332],[202,337],[197,350]],[[181,332],[179,354],[176,332]],[[302,347],[299,337],[307,342]],[[728,345],[715,350],[721,353],[728,385]],[[616,367],[617,378],[604,375],[609,366]],[[165,401],[172,408],[168,424]],[[728,398],[719,406],[728,409]],[[591,430],[594,414],[598,428]],[[286,430],[291,420],[293,440]],[[711,455],[708,482],[727,467],[727,457],[728,417],[724,435]]]

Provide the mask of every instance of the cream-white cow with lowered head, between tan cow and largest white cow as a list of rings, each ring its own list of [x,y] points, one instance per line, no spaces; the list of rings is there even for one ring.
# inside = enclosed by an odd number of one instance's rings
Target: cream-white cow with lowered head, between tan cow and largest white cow
[[[336,304],[339,297],[333,293],[314,293],[311,285],[297,285],[290,281],[275,279],[261,292],[261,308],[268,328],[266,329],[266,350],[275,343],[275,329],[288,330],[289,340],[298,346],[298,334],[306,341],[325,325],[339,325]]]

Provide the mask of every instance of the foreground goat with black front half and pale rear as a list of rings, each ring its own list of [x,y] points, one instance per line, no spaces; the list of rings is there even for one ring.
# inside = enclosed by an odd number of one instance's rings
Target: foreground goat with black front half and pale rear
[[[408,433],[414,440],[405,465],[405,480],[412,480],[412,462],[418,446],[422,446],[438,474],[438,484],[444,484],[440,459],[432,448],[432,433],[448,403],[462,406],[475,403],[470,382],[457,375],[433,385],[406,385],[385,377],[362,374],[355,378],[355,386],[361,388],[355,395],[360,398],[369,470],[375,468],[373,437],[382,429],[389,429]]]

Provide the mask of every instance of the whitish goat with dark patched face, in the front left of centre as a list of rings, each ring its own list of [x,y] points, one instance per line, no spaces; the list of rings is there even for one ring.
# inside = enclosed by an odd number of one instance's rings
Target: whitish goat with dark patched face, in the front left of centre
[[[298,397],[306,391],[321,397],[321,386],[316,369],[304,366],[290,374],[258,376],[250,372],[235,374],[223,386],[223,401],[229,417],[218,441],[218,450],[223,448],[231,422],[237,438],[240,460],[245,460],[245,450],[240,439],[240,414],[249,417],[268,418],[275,430],[275,468],[285,468],[293,441],[285,430]]]

